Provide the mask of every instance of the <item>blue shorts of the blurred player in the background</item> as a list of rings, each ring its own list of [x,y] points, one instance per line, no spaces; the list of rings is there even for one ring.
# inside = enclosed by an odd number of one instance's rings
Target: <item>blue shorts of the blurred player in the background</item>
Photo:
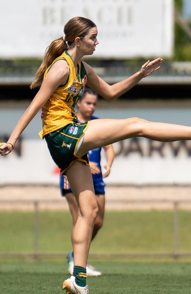
[[[96,195],[105,195],[105,183],[103,181],[93,182],[93,187]],[[62,196],[65,196],[67,193],[72,193],[72,189],[66,176],[60,176],[60,191]]]

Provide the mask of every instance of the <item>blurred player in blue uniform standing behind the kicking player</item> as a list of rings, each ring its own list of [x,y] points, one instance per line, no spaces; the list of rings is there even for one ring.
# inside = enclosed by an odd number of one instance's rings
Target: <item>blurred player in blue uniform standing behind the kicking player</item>
[[[77,116],[78,116],[79,123],[84,123],[86,121],[97,119],[97,117],[92,116],[96,109],[97,98],[98,98],[98,94],[95,91],[93,91],[90,88],[84,89],[81,98],[77,102],[77,106],[78,106]],[[108,145],[103,148],[105,150],[105,156],[106,156],[106,164],[104,166],[105,172],[103,176],[102,176],[101,166],[100,166],[101,148],[96,148],[96,149],[88,151],[88,159],[89,159],[90,169],[91,169],[92,178],[93,178],[93,186],[95,190],[96,201],[98,204],[98,214],[97,214],[96,221],[94,223],[91,240],[93,240],[93,238],[96,236],[96,234],[98,233],[98,230],[101,228],[103,224],[103,216],[104,216],[104,208],[105,208],[105,191],[104,191],[105,183],[103,182],[103,178],[109,175],[110,168],[115,156],[112,145]],[[62,196],[66,197],[66,200],[68,202],[68,206],[72,215],[72,220],[73,220],[72,235],[73,235],[73,230],[76,224],[76,220],[78,218],[78,204],[72,193],[71,187],[68,183],[66,176],[60,175],[60,189],[61,189]],[[74,266],[73,250],[70,253],[68,253],[67,259],[68,259],[68,272],[72,275],[73,266]],[[99,271],[95,270],[89,264],[87,264],[86,266],[86,273],[88,276],[101,275]]]

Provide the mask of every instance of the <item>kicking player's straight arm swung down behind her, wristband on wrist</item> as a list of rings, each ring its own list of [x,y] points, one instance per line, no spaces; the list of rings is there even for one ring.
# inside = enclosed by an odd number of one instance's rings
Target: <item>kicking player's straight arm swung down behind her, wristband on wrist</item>
[[[68,74],[69,66],[66,61],[59,60],[55,64],[53,64],[51,70],[46,75],[38,93],[16,124],[16,127],[14,128],[8,142],[10,142],[13,146],[15,145],[17,139],[24,131],[26,126],[28,126],[30,121],[41,109],[41,107],[46,103],[46,101],[56,90],[56,88],[66,82]],[[12,146],[10,144],[4,143],[3,146],[0,147],[1,155],[6,155],[11,151]]]

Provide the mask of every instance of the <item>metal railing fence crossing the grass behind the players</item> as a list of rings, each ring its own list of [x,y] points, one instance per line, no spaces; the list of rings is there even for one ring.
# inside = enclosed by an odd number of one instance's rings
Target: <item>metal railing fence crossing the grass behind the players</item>
[[[60,203],[63,204],[63,201],[60,200],[0,200],[0,203],[22,203],[22,204],[33,204],[34,218],[33,218],[33,252],[31,253],[21,253],[21,252],[0,252],[0,256],[30,256],[34,259],[38,257],[53,257],[53,256],[66,256],[67,253],[43,253],[39,252],[39,206],[43,203]],[[177,259],[179,257],[190,257],[191,252],[180,252],[179,250],[179,205],[180,204],[190,204],[191,200],[150,200],[150,199],[108,199],[106,204],[149,204],[149,203],[162,203],[162,204],[171,204],[174,211],[173,217],[173,250],[172,252],[148,252],[148,253],[91,253],[89,256],[95,257],[172,257]],[[127,209],[129,210],[129,209]]]

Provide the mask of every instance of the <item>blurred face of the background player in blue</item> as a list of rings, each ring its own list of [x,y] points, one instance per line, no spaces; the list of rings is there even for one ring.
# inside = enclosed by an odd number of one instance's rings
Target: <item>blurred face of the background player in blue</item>
[[[96,102],[96,95],[86,93],[86,96],[77,103],[78,113],[80,113],[81,116],[83,116],[85,119],[90,120],[92,114],[96,109]]]

